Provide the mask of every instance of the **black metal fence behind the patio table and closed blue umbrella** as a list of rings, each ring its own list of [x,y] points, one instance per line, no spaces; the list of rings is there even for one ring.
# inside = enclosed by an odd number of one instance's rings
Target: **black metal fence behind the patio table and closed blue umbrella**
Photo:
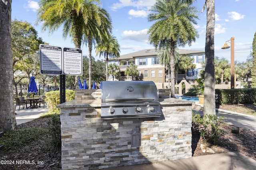
[[[23,96],[23,97],[29,97],[31,95],[33,95],[33,93],[28,93],[28,85],[23,85],[23,84],[18,84],[17,86],[13,87],[13,94],[14,96]],[[50,92],[50,91],[54,91],[54,90],[59,90],[59,88],[57,87],[57,89],[55,89],[55,86],[43,86],[42,85],[37,85],[37,89],[38,92],[34,93],[34,95],[42,95],[44,94],[44,92]]]

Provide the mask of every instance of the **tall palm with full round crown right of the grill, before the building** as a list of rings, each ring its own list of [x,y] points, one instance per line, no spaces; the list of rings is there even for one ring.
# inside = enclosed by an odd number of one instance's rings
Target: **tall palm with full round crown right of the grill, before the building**
[[[191,45],[198,37],[193,24],[198,19],[195,7],[180,0],[157,0],[151,8],[148,21],[156,21],[148,30],[149,41],[155,48],[170,48],[171,97],[175,98],[175,47]]]

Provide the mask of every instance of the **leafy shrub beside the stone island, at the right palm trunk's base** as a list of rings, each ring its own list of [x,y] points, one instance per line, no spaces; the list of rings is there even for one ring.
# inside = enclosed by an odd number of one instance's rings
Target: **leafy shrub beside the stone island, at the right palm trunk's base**
[[[192,127],[200,132],[200,135],[204,142],[216,141],[224,134],[224,130],[220,129],[220,124],[224,117],[218,117],[217,115],[208,115],[201,117],[199,114],[192,113]]]

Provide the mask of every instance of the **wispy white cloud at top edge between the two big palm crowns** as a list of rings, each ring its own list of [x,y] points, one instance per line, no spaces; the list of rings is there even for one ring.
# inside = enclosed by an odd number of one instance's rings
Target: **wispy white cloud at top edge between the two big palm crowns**
[[[126,6],[136,7],[137,9],[151,8],[155,4],[156,0],[119,0],[118,3],[114,3],[111,7],[112,10],[116,11]]]

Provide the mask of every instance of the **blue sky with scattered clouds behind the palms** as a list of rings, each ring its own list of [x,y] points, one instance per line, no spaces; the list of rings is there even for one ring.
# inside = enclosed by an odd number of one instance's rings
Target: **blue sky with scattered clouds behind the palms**
[[[12,20],[27,21],[38,32],[38,37],[50,45],[58,47],[71,47],[74,44],[71,38],[62,37],[62,27],[53,34],[48,30],[42,32],[42,25],[35,25],[37,18],[38,2],[40,0],[12,0]],[[148,21],[150,8],[156,0],[101,0],[102,8],[108,11],[112,18],[112,34],[120,44],[120,55],[133,53],[144,49],[152,49],[148,43],[148,29],[154,22]],[[197,0],[193,6],[198,8],[199,20],[194,25],[199,33],[199,38],[191,46],[180,49],[203,50],[206,33],[206,10],[202,12],[205,0]],[[252,41],[256,33],[256,0],[215,0],[215,32],[214,54],[230,62],[230,48],[221,49],[226,41],[230,46],[230,38],[234,37],[235,61],[246,62],[252,52]],[[39,48],[39,47],[38,47]],[[83,55],[88,55],[86,45],[81,47]],[[97,59],[95,49],[92,56]]]

